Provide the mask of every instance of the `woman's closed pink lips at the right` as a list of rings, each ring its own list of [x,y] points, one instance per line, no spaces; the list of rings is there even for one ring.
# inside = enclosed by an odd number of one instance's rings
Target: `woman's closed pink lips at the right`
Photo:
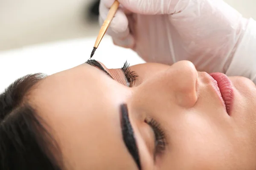
[[[218,94],[221,95],[221,101],[224,101],[224,106],[227,110],[227,113],[230,115],[234,102],[234,90],[232,82],[223,73],[212,73],[210,76],[216,80],[219,89],[217,90]]]

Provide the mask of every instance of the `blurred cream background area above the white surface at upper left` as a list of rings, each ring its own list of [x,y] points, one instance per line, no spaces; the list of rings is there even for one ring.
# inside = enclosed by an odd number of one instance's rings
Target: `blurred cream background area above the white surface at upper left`
[[[0,50],[95,36],[87,21],[94,0],[0,0]]]

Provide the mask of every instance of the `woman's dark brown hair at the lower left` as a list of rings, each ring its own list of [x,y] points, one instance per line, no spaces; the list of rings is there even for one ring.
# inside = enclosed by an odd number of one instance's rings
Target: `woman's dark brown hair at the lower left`
[[[44,77],[27,75],[0,94],[0,170],[61,170],[53,156],[58,147],[29,102]]]

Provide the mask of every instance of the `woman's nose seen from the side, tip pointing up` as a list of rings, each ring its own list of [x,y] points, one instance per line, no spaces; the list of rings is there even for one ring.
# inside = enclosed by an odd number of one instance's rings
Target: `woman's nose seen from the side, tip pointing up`
[[[141,89],[144,92],[150,91],[151,96],[162,101],[162,104],[172,101],[183,108],[191,108],[198,99],[197,77],[198,72],[192,62],[179,61],[151,76],[143,83]]]

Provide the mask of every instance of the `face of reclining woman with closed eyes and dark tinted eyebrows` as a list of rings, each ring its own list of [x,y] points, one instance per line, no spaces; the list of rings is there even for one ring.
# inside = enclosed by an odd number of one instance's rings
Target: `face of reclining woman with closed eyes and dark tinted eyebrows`
[[[33,91],[67,169],[256,169],[253,82],[213,74],[217,83],[188,61],[127,70],[89,60]]]

